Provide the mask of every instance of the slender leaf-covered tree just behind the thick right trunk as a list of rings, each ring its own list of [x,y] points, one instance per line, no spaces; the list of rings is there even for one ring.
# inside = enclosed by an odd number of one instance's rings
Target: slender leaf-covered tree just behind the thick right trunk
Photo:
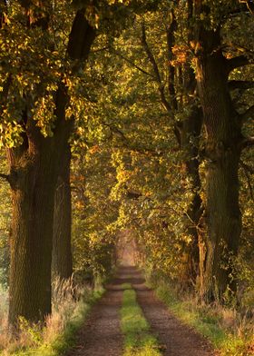
[[[200,161],[198,158],[202,113],[195,97],[196,80],[190,65],[190,54],[186,51],[186,43],[192,38],[191,8],[188,4],[187,9],[183,12],[181,6],[176,4],[162,5],[160,15],[166,34],[166,68],[160,70],[158,61],[152,54],[146,39],[144,22],[142,24],[142,46],[153,69],[161,104],[169,115],[169,125],[172,126],[177,143],[179,143],[182,153],[182,173],[185,173],[186,180],[190,181],[189,189],[192,199],[187,212],[184,213],[184,217],[187,218],[185,219],[186,233],[191,239],[188,253],[189,265],[186,273],[188,274],[187,278],[191,282],[195,282],[200,274],[198,225],[203,211],[200,198]],[[181,19],[182,16],[185,17],[184,20]],[[183,21],[185,21],[184,25],[182,25]],[[188,24],[187,31],[186,23]],[[181,37],[181,40],[177,40],[177,37]]]

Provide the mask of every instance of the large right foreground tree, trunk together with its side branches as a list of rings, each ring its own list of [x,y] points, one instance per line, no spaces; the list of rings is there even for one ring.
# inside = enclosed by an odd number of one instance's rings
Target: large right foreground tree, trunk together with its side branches
[[[222,39],[223,24],[231,14],[238,14],[253,22],[237,1],[223,3],[220,10],[211,2],[194,1],[196,36],[195,68],[204,114],[206,130],[207,191],[206,214],[208,221],[206,287],[209,299],[216,296],[223,300],[227,290],[236,291],[232,263],[238,254],[241,233],[239,209],[239,160],[242,150],[251,144],[251,139],[242,132],[244,116],[239,114],[230,95],[230,73],[250,64],[248,55],[235,56],[230,50],[227,58]]]

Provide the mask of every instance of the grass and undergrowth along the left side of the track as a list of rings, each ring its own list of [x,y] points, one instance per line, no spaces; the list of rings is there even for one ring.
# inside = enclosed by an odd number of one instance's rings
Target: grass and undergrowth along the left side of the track
[[[73,288],[75,290],[73,291]],[[31,325],[20,320],[20,333],[16,340],[9,336],[5,325],[0,335],[1,356],[59,356],[75,343],[76,331],[85,320],[91,306],[103,295],[103,288],[92,291],[91,288],[78,289],[73,281],[54,283],[54,303],[52,315],[45,326]],[[73,293],[75,298],[73,298]]]

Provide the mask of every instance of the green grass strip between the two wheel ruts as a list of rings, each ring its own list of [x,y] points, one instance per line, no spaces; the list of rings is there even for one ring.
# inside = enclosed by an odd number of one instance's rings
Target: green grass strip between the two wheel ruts
[[[160,356],[157,339],[151,335],[150,326],[136,302],[131,284],[124,283],[121,326],[124,334],[123,356]]]

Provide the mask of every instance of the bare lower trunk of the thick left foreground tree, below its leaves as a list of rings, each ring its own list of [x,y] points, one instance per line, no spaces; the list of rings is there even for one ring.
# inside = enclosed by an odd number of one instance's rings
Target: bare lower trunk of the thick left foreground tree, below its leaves
[[[54,173],[45,159],[18,165],[13,187],[9,321],[38,321],[51,312]],[[47,174],[44,174],[45,170]],[[45,176],[46,175],[46,176]]]

